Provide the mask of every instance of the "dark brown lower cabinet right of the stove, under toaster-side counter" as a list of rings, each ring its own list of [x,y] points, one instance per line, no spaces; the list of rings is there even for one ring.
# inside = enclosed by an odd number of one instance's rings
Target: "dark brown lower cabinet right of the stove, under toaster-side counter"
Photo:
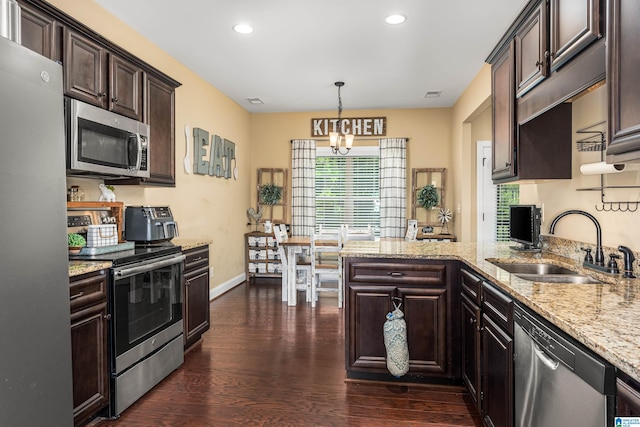
[[[184,251],[184,347],[197,342],[209,330],[209,246]]]

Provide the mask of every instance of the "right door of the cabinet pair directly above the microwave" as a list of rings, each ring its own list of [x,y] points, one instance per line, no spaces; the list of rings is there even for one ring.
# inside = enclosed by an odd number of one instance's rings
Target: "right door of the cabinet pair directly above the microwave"
[[[117,55],[109,55],[109,109],[142,120],[142,70]]]

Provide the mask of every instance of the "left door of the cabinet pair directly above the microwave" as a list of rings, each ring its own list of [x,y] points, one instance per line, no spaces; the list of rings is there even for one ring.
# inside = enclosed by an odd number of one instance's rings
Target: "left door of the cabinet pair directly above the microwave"
[[[92,40],[64,30],[64,92],[101,108],[108,107],[107,52]]]

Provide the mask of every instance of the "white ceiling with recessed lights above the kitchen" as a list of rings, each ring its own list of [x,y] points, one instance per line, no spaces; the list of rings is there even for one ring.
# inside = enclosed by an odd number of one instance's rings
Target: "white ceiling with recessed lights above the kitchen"
[[[450,107],[527,0],[95,0],[253,113]],[[384,22],[401,13],[398,26]],[[252,34],[232,26],[248,23]],[[427,91],[442,91],[425,98]],[[251,105],[258,97],[264,104]]]

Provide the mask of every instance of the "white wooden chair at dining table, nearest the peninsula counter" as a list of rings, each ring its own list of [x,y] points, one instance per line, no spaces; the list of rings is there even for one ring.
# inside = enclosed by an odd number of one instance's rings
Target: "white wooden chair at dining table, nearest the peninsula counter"
[[[338,308],[342,308],[343,281],[342,233],[323,231],[311,236],[311,307],[316,306],[319,292],[337,292]],[[329,259],[330,258],[330,259]],[[331,286],[333,284],[333,286]]]

